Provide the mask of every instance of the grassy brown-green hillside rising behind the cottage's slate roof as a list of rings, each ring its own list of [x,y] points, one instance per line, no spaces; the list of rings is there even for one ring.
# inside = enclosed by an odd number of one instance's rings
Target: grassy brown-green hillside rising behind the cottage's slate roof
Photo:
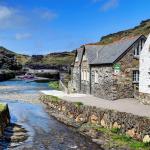
[[[149,33],[150,33],[150,19],[142,21],[138,26],[132,29],[103,36],[99,42],[94,44],[109,44],[125,37],[132,37],[141,34],[147,36]]]

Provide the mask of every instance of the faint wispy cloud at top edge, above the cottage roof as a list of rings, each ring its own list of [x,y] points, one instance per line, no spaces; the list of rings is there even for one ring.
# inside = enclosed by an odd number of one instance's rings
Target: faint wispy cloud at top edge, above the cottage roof
[[[108,0],[106,3],[104,3],[101,7],[102,11],[107,11],[109,9],[115,8],[118,6],[119,0]]]

